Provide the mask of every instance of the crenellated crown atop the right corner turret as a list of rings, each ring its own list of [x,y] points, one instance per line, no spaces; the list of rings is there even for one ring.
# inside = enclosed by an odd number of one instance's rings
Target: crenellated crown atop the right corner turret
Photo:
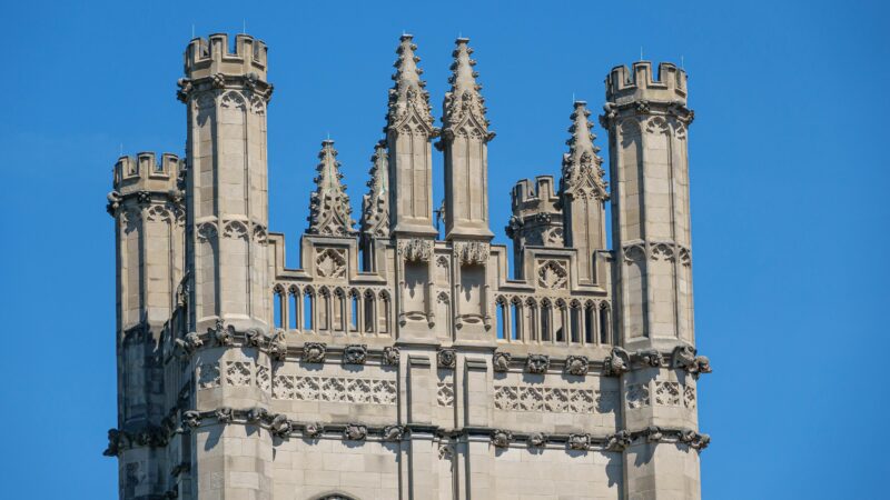
[[[659,64],[657,76],[652,72],[652,62],[634,62],[612,68],[605,79],[605,99],[616,104],[636,101],[681,101],[686,103],[686,72],[671,62]]]

